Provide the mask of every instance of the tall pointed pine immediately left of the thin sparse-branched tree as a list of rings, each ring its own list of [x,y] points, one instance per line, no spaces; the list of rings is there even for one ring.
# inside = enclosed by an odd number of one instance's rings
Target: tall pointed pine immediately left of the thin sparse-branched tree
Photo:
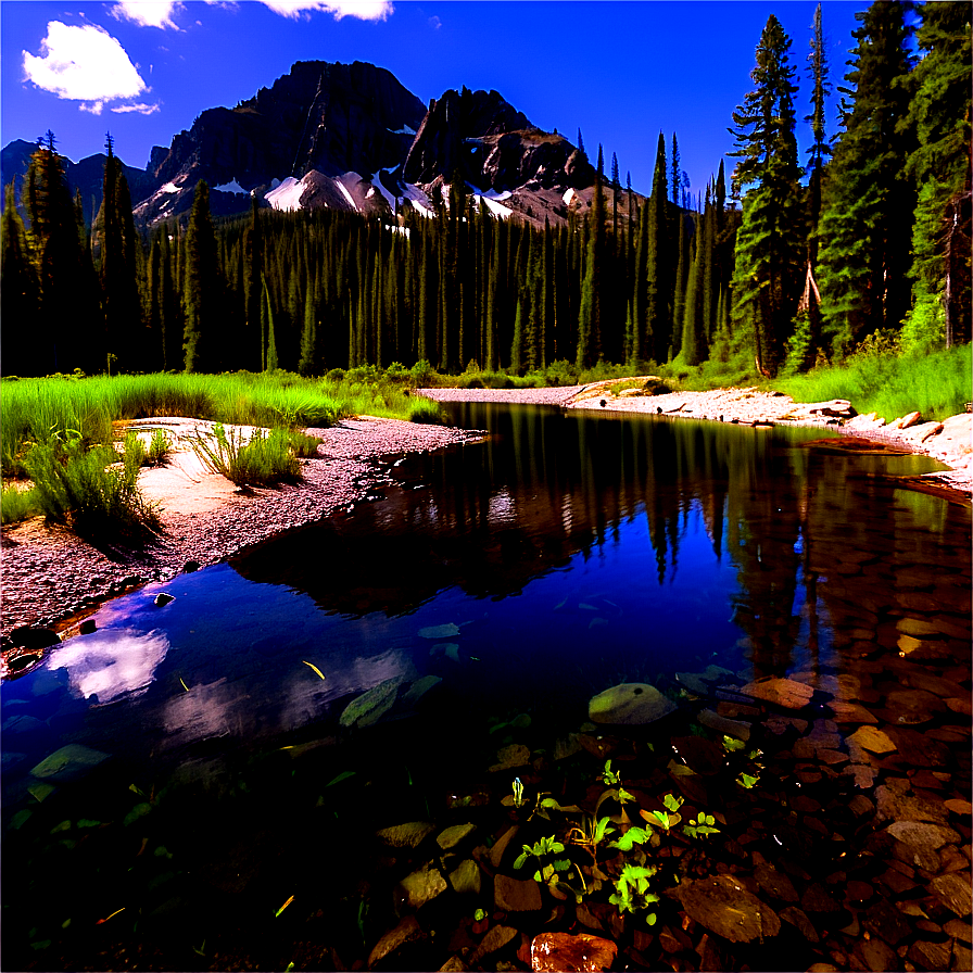
[[[750,73],[755,90],[733,113],[740,159],[734,181],[750,187],[743,200],[733,276],[733,321],[749,343],[757,368],[773,376],[800,290],[803,241],[800,189],[794,136],[794,68],[791,39],[771,14]]]

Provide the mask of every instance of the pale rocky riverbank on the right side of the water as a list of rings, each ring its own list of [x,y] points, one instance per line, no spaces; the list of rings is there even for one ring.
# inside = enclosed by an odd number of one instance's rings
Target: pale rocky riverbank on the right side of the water
[[[612,379],[547,389],[420,389],[418,394],[438,402],[559,405],[599,413],[643,413],[748,426],[820,426],[931,456],[950,468],[925,473],[922,480],[958,491],[968,498],[973,494],[973,416],[969,414],[952,416],[943,422],[925,422],[918,413],[912,413],[886,424],[874,415],[856,415],[847,401],[796,403],[789,395],[758,389],[637,394],[636,383],[647,379],[648,376],[643,376],[624,382]],[[611,394],[610,389],[620,384],[632,388],[619,395]]]

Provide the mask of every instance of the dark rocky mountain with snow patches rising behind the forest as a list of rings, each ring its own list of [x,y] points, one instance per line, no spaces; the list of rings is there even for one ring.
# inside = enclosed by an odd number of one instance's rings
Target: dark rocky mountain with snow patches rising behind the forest
[[[26,172],[33,149],[3,150],[4,179]],[[103,165],[103,155],[68,164],[88,218]],[[236,108],[204,111],[152,150],[146,170],[126,167],[143,226],[188,213],[201,179],[216,215],[247,212],[251,197],[281,210],[430,215],[457,173],[475,204],[538,225],[587,208],[595,180],[583,151],[496,91],[448,90],[427,110],[389,71],[359,61],[299,61]]]

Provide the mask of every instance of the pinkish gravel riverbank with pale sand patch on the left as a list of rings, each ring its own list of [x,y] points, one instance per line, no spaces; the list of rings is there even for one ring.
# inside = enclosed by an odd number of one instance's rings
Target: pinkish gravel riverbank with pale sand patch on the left
[[[143,495],[161,506],[162,532],[142,551],[100,549],[41,518],[0,530],[3,612],[0,634],[22,626],[66,628],[93,605],[150,581],[216,564],[287,530],[346,510],[391,482],[399,456],[439,450],[480,433],[399,419],[345,419],[308,429],[318,458],[301,460],[294,486],[239,491],[199,463],[182,437],[203,420],[154,418],[127,428],[162,427],[175,441],[169,462],[143,469]]]

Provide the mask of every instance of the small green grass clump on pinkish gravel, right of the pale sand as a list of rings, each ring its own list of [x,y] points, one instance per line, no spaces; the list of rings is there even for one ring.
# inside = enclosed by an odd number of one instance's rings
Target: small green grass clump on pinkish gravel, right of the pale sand
[[[238,486],[267,486],[301,478],[301,464],[286,429],[271,429],[269,433],[257,429],[248,438],[217,422],[211,435],[194,437],[190,444],[204,466]]]

